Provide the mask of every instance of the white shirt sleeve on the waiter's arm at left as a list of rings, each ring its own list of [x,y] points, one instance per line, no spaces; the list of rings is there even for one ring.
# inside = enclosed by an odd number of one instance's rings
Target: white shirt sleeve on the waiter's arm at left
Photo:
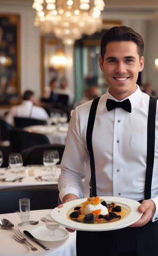
[[[69,193],[75,194],[79,198],[84,197],[83,179],[85,178],[87,158],[87,147],[85,139],[81,135],[80,120],[77,110],[73,110],[58,181],[61,201],[64,195]]]

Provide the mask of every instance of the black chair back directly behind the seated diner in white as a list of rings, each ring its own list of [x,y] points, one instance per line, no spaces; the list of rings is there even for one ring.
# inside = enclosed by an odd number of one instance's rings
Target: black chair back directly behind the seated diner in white
[[[14,125],[15,128],[24,128],[31,125],[45,125],[46,121],[35,119],[35,118],[29,118],[29,117],[14,117]]]

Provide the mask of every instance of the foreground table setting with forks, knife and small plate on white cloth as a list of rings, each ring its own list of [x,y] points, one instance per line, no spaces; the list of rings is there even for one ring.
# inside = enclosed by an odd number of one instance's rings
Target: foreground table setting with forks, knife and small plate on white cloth
[[[52,230],[53,222],[46,222],[51,212],[52,209],[30,211],[28,223],[20,226],[20,212],[0,214],[1,254],[76,256],[76,231],[69,233],[65,226],[55,222],[57,229],[55,235],[51,235],[49,229]],[[3,220],[9,221],[5,227]],[[29,220],[35,221],[36,225],[31,225]],[[6,242],[9,246],[6,246]]]

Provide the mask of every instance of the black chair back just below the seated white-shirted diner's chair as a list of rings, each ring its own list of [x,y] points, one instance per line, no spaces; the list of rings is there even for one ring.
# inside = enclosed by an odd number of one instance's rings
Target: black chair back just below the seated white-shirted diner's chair
[[[10,143],[14,152],[21,152],[25,148],[40,144],[50,144],[45,134],[13,130],[9,132]]]

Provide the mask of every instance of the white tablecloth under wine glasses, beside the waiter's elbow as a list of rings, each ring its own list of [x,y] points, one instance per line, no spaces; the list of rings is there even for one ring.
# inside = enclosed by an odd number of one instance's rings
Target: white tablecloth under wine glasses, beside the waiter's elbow
[[[3,188],[15,188],[15,187],[27,187],[27,186],[36,186],[36,185],[57,185],[57,179],[61,172],[60,167],[56,167],[56,175],[54,181],[37,181],[35,178],[38,176],[44,177],[47,174],[45,166],[43,165],[32,165],[22,167],[21,171],[18,173],[18,177],[25,177],[21,182],[19,181],[2,181],[3,178],[16,178],[15,173],[11,171],[11,169],[0,168],[0,173],[4,173],[4,175],[0,175],[0,189]]]

